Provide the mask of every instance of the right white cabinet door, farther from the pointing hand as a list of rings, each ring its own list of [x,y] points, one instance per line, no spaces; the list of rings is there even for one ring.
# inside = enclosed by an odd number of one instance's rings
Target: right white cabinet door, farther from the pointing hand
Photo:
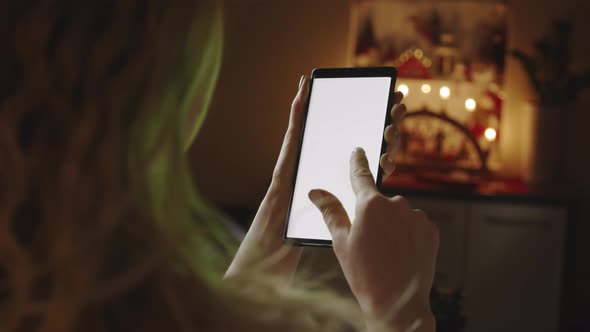
[[[567,212],[515,204],[471,205],[467,332],[556,332]]]

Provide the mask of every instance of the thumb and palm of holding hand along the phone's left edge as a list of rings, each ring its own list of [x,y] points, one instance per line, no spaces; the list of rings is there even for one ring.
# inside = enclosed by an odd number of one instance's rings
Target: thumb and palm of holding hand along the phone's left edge
[[[299,91],[291,105],[289,127],[270,187],[254,217],[252,226],[226,272],[226,277],[251,269],[253,264],[261,262],[265,264],[265,269],[287,279],[290,279],[297,269],[303,249],[285,245],[283,233],[293,191],[293,176],[308,89],[309,81],[302,76],[299,81]]]

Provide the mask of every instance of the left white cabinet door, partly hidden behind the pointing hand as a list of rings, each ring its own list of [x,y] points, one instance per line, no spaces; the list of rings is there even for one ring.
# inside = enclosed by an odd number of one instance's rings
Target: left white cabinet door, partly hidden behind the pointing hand
[[[408,199],[413,208],[426,212],[428,218],[438,225],[440,246],[436,262],[436,286],[463,288],[467,204],[441,199]]]

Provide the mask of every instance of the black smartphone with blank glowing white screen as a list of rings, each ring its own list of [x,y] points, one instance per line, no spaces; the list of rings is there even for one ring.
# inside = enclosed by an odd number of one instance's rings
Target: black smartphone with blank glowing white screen
[[[322,68],[312,72],[284,238],[294,245],[331,246],[311,189],[336,195],[352,220],[356,198],[350,184],[350,155],[362,147],[376,184],[383,170],[383,131],[390,123],[396,70],[393,67]]]

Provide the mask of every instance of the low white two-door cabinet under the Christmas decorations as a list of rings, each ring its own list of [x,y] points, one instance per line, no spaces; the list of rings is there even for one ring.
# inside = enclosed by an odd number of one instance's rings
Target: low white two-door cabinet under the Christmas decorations
[[[439,226],[437,284],[463,289],[467,332],[558,331],[566,208],[409,198]]]

